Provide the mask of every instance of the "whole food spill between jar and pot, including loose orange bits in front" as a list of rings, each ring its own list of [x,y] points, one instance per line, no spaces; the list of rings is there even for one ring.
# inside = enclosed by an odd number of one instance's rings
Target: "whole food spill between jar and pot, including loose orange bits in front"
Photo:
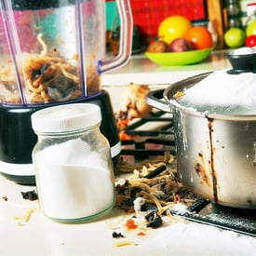
[[[110,226],[114,230],[113,238],[118,238],[115,247],[140,245],[141,239],[153,234],[155,229],[185,222],[181,217],[173,216],[171,210],[178,206],[187,209],[196,196],[187,192],[179,182],[173,155],[166,152],[154,160],[143,160],[134,165],[121,159],[117,167],[116,206],[125,214],[115,226]]]

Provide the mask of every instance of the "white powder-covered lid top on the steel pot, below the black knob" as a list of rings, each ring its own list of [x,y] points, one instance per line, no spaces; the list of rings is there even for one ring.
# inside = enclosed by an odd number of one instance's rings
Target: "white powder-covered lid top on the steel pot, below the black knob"
[[[256,74],[227,74],[227,70],[209,74],[178,100],[197,111],[225,115],[256,114]]]

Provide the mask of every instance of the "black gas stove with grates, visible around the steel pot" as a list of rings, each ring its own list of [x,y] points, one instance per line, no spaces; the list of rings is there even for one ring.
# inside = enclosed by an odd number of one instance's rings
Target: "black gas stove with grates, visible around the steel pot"
[[[159,111],[142,117],[128,125],[125,131],[128,135],[134,136],[134,139],[121,141],[121,155],[133,157],[134,161],[164,155],[166,151],[171,155],[176,153],[173,120],[170,114]],[[187,221],[256,236],[255,209],[235,209],[215,204],[204,198],[196,198],[195,203],[185,211],[173,209],[171,213]],[[149,208],[152,209],[152,206]]]

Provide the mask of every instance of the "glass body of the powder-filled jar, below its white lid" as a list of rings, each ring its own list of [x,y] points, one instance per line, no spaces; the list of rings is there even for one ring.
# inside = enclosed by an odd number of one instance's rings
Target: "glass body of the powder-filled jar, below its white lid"
[[[110,146],[100,124],[39,133],[33,163],[40,208],[56,222],[86,222],[115,205]]]

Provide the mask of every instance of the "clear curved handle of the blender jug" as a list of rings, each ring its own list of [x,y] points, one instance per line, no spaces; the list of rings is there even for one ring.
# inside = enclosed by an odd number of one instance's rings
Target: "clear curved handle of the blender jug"
[[[99,74],[112,71],[126,64],[131,54],[133,20],[129,0],[116,0],[116,5],[121,21],[119,52],[112,60],[99,61]]]

